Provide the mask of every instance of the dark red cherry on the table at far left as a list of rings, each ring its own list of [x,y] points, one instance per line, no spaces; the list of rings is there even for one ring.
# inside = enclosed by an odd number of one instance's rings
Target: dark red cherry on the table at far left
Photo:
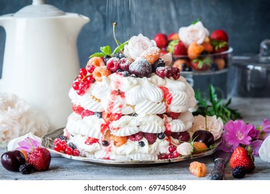
[[[19,171],[19,166],[26,163],[24,154],[19,150],[4,152],[1,156],[1,164],[3,168],[10,171]]]

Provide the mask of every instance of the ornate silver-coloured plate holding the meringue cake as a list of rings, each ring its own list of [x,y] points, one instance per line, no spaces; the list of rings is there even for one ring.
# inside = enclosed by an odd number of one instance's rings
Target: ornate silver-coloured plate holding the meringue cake
[[[205,157],[208,155],[212,155],[212,153],[214,153],[217,150],[218,145],[221,143],[221,138],[218,139],[217,141],[215,141],[214,148],[212,148],[211,150],[208,150],[206,152],[200,153],[200,154],[196,154],[196,155],[192,155],[192,156],[180,156],[178,158],[174,158],[174,159],[155,159],[155,160],[132,160],[132,159],[128,159],[128,160],[113,160],[113,159],[92,159],[92,158],[87,158],[87,157],[74,157],[71,155],[67,155],[65,153],[62,152],[57,152],[56,150],[53,149],[53,141],[54,139],[56,139],[58,136],[60,136],[61,134],[63,134],[63,129],[64,128],[60,128],[58,130],[55,130],[53,132],[50,132],[44,136],[42,136],[42,146],[44,146],[45,148],[47,148],[49,150],[49,152],[55,154],[55,155],[60,155],[61,157],[65,157],[68,159],[74,159],[74,160],[78,160],[78,161],[89,161],[90,163],[93,164],[105,164],[105,165],[112,165],[112,166],[135,166],[135,165],[153,165],[153,164],[169,164],[171,162],[178,162],[178,161],[185,161],[188,159],[195,159],[195,158],[199,158],[199,157]]]

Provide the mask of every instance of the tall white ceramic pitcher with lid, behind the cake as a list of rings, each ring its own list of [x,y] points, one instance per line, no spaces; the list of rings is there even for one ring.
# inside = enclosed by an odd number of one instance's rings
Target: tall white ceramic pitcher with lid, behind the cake
[[[64,127],[71,113],[68,91],[80,67],[76,42],[89,21],[42,0],[0,17],[6,31],[0,91],[47,116],[50,130]]]

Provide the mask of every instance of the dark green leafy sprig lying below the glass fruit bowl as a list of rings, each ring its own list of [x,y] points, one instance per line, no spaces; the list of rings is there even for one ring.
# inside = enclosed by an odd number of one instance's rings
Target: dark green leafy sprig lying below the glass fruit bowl
[[[202,92],[198,89],[195,92],[195,98],[198,100],[198,109],[194,112],[194,115],[205,116],[206,107],[210,106],[207,112],[208,116],[216,115],[220,117],[223,123],[227,123],[230,120],[235,121],[238,118],[242,118],[241,114],[237,112],[237,109],[231,109],[229,107],[232,99],[229,98],[227,101],[223,98],[217,98],[216,89],[213,85],[208,88],[209,96],[202,95]]]

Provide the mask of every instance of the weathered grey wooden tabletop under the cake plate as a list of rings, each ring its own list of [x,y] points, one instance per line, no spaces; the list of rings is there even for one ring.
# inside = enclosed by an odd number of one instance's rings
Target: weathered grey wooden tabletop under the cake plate
[[[264,118],[270,119],[270,98],[233,98],[232,107],[239,109],[244,116],[244,121],[258,126]],[[0,155],[4,152],[0,149]],[[203,162],[208,173],[213,168],[212,155],[194,161]],[[0,179],[164,179],[164,180],[201,180],[208,177],[198,178],[189,173],[191,160],[180,161],[171,164],[160,164],[155,166],[116,167],[91,164],[86,161],[76,161],[52,155],[51,166],[48,171],[35,172],[30,175],[13,173],[0,165]],[[270,180],[270,164],[263,162],[260,157],[255,157],[255,170],[247,174],[244,179]],[[226,164],[226,179],[234,179],[230,166]]]

